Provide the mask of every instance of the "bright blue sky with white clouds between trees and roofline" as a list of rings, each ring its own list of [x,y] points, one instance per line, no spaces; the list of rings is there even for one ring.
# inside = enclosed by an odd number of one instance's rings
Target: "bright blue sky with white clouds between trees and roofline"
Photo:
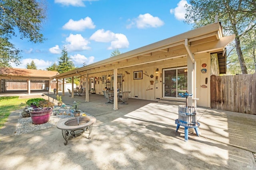
[[[34,44],[12,39],[22,50],[26,68],[32,60],[38,69],[58,64],[68,50],[75,66],[92,64],[121,53],[184,33],[192,29],[183,22],[186,0],[50,0],[42,33],[47,39]]]

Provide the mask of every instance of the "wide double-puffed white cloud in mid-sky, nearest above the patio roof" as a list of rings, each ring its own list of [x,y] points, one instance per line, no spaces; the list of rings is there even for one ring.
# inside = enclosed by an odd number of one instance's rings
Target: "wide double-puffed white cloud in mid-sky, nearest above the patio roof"
[[[112,31],[105,31],[104,29],[99,29],[90,37],[91,40],[97,42],[108,43],[111,42],[111,46],[108,49],[121,49],[128,48],[129,41],[124,34],[113,33]]]

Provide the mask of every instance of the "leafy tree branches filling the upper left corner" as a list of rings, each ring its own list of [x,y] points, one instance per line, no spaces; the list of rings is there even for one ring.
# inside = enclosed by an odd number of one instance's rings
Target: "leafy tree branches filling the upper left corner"
[[[44,41],[42,23],[46,18],[46,5],[42,0],[0,0],[0,67],[20,64],[20,50],[10,42],[12,37],[29,39],[34,43]]]

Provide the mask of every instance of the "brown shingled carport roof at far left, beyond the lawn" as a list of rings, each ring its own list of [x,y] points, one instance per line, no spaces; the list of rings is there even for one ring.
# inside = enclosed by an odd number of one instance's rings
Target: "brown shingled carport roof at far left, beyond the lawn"
[[[0,78],[7,80],[52,80],[57,71],[33,70],[25,68],[0,68]]]

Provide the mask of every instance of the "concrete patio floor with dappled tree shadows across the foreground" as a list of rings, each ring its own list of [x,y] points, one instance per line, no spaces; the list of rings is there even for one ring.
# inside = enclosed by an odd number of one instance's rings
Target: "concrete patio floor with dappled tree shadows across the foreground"
[[[20,97],[33,95],[41,97]],[[0,130],[0,169],[256,169],[256,115],[198,107],[201,135],[190,134],[185,142],[184,128],[176,132],[176,105],[129,99],[114,111],[104,96],[84,98],[66,94],[62,100],[80,101],[80,109],[96,117],[92,139],[77,137],[64,146],[56,127],[4,136],[13,128],[8,121]]]

